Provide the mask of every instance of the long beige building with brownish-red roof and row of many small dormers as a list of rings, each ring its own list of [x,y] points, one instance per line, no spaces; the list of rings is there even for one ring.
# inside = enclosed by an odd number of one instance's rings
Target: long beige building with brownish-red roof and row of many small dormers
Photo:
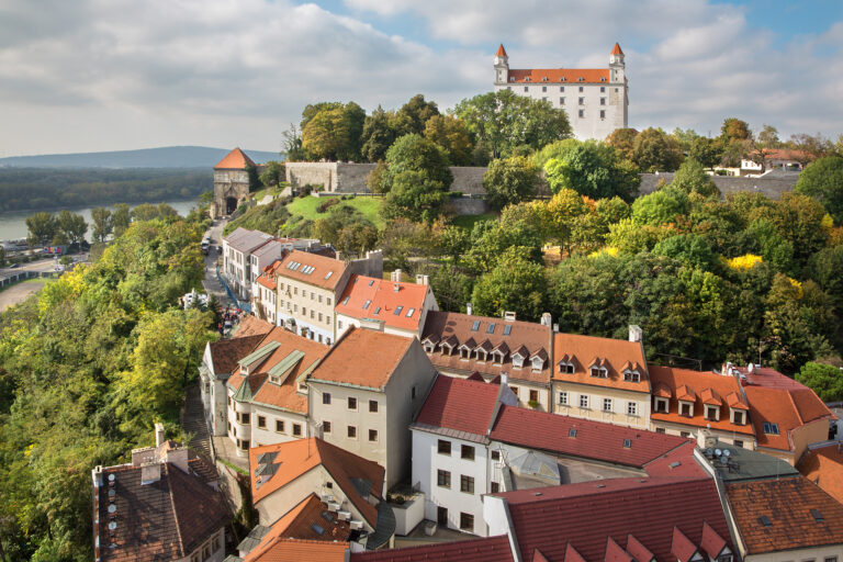
[[[471,310],[471,308],[469,308]],[[509,389],[521,407],[550,411],[550,315],[541,324],[454,312],[430,312],[422,345],[442,374],[485,381],[508,375]]]

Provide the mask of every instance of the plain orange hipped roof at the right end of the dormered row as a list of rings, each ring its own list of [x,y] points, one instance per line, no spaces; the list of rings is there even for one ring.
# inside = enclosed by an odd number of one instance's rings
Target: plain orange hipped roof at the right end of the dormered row
[[[799,389],[746,385],[743,390],[750,403],[750,418],[755,426],[758,447],[795,451],[791,431],[818,419],[834,418],[825,404],[807,386]],[[765,424],[776,424],[778,432],[765,431]]]

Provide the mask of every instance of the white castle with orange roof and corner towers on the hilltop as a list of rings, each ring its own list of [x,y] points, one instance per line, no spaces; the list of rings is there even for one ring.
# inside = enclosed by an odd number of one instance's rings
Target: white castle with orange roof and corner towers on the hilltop
[[[609,54],[608,68],[510,69],[501,45],[495,55],[495,91],[512,90],[533,100],[549,101],[567,112],[576,138],[603,140],[627,127],[628,86],[620,45]]]

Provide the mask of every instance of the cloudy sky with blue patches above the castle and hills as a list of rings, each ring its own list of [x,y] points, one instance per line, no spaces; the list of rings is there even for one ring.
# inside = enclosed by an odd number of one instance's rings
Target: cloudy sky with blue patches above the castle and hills
[[[606,67],[629,124],[843,134],[841,0],[0,0],[0,157],[278,151],[318,101],[452,108],[510,68]]]

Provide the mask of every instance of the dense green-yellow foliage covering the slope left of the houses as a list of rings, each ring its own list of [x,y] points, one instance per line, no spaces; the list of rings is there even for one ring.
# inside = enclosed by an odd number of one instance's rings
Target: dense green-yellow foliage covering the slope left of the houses
[[[201,221],[135,222],[101,258],[0,315],[0,547],[91,560],[91,469],[153,425],[176,434],[211,313],[173,307],[203,276]],[[2,558],[2,553],[0,553]]]

